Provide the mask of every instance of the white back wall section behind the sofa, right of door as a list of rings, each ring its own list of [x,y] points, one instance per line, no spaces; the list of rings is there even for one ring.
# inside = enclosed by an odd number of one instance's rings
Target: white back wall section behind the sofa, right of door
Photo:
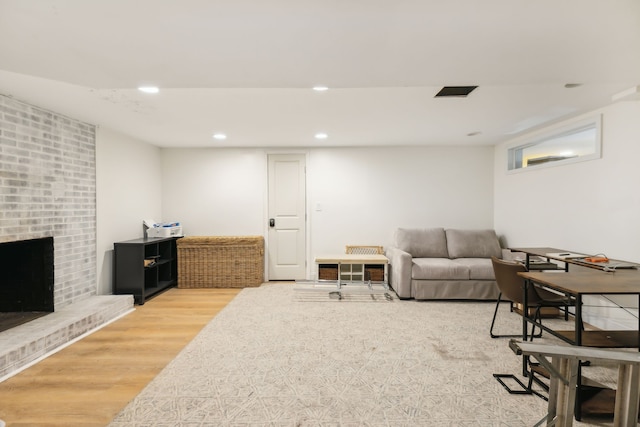
[[[493,228],[492,156],[490,147],[312,150],[312,257],[388,246],[398,227]]]

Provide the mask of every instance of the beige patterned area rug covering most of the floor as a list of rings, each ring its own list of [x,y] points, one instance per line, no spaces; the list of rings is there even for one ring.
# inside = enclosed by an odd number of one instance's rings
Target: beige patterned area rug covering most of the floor
[[[327,304],[295,292],[244,289],[110,425],[511,427],[546,414],[492,376],[521,369],[508,339],[489,337],[493,303]],[[518,333],[520,319],[504,304],[497,332]]]

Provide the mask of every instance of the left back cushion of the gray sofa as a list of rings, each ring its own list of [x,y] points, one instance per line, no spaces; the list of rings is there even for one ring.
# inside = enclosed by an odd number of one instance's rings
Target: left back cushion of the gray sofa
[[[444,228],[398,228],[396,247],[413,258],[448,258]]]

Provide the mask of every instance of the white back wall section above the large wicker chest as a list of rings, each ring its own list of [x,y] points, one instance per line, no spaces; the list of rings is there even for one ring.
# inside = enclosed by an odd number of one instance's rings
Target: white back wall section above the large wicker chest
[[[264,235],[262,150],[163,149],[162,170],[162,221],[190,236]]]

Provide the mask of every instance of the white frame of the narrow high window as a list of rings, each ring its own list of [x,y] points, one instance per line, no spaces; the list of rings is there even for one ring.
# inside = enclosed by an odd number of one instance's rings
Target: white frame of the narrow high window
[[[539,165],[531,165],[526,167],[516,167],[516,153],[518,150],[549,142],[553,139],[562,138],[581,130],[594,128],[595,141],[593,153],[570,157],[562,160],[554,160]],[[591,116],[585,119],[572,121],[563,125],[555,126],[552,129],[545,130],[526,139],[520,139],[512,144],[507,145],[507,173],[521,173],[533,170],[540,170],[549,167],[563,166],[572,163],[585,162],[602,157],[602,115]]]

